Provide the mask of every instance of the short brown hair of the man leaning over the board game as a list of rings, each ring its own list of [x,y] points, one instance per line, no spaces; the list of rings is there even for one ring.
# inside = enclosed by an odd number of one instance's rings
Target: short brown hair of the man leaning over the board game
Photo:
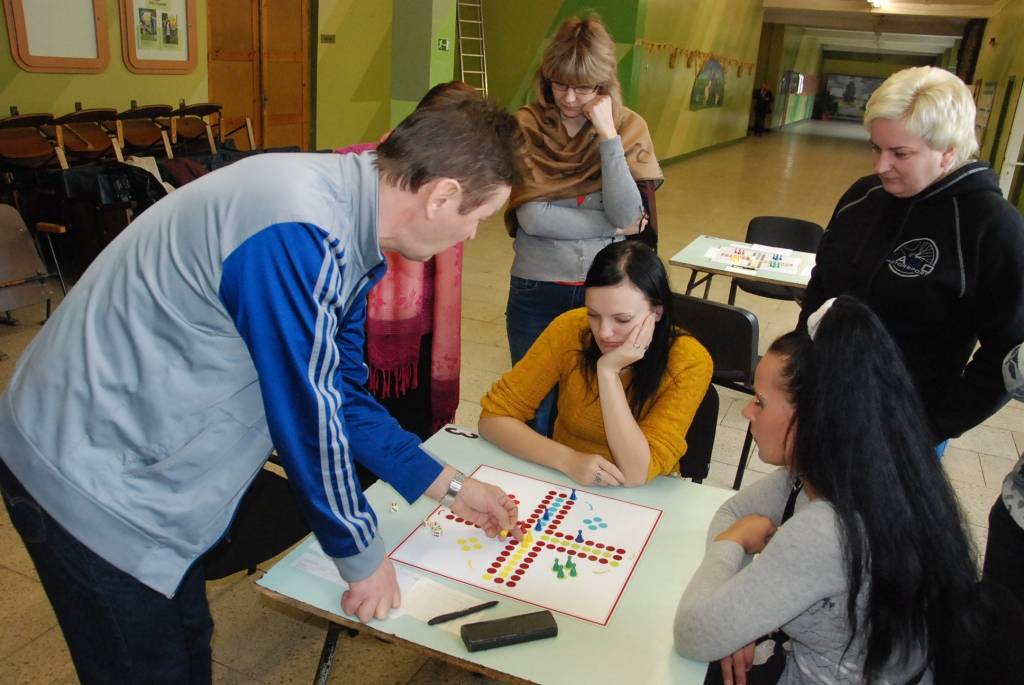
[[[454,178],[465,214],[500,187],[522,182],[522,145],[519,124],[504,108],[473,96],[452,98],[398,124],[377,147],[377,168],[385,182],[411,192]]]

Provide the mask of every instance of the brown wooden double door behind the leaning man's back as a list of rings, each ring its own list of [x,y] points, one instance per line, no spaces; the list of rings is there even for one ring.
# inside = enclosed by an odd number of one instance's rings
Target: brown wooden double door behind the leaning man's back
[[[308,0],[207,3],[210,101],[230,131],[249,117],[260,148],[309,143]],[[246,133],[231,136],[248,149]]]

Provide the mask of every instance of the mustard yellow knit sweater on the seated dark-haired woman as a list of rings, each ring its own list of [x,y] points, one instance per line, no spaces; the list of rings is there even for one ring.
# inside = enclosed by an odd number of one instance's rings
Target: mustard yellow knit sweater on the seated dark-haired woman
[[[578,452],[611,461],[596,382],[589,384],[580,365],[590,340],[587,309],[558,316],[537,339],[526,356],[506,372],[480,400],[480,418],[507,416],[526,422],[541,400],[558,385],[554,440]],[[686,432],[711,383],[712,360],[692,336],[680,336],[669,353],[669,366],[647,413],[637,423],[650,445],[647,480],[679,470],[686,454]],[[630,380],[623,374],[624,386]],[[628,386],[627,386],[628,387]]]

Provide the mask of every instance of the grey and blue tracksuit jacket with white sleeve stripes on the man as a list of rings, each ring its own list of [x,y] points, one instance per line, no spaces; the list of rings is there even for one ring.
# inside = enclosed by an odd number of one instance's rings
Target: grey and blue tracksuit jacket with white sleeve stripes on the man
[[[0,396],[0,460],[57,521],[165,595],[275,445],[350,580],[384,556],[354,462],[412,502],[440,473],[364,385],[385,269],[374,154],[262,155],[141,214]]]

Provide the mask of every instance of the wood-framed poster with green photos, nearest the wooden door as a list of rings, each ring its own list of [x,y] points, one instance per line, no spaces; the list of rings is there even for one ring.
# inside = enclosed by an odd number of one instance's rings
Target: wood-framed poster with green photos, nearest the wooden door
[[[120,0],[125,67],[136,74],[196,69],[196,0]]]

